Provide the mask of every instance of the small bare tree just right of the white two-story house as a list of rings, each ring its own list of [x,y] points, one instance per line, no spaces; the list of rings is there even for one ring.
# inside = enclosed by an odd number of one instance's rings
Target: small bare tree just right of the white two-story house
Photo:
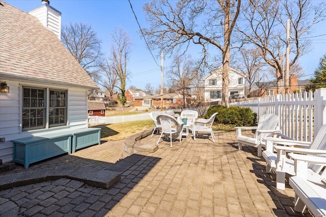
[[[252,86],[256,82],[260,82],[263,78],[261,72],[264,63],[261,63],[261,56],[257,49],[252,48],[240,48],[238,70],[245,74],[246,82],[248,84],[248,92],[251,92]]]

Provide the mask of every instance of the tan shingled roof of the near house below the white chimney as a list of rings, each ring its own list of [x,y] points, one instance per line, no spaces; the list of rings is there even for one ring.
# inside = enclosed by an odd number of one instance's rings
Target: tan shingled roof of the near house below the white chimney
[[[58,37],[0,1],[0,75],[12,80],[98,88]]]

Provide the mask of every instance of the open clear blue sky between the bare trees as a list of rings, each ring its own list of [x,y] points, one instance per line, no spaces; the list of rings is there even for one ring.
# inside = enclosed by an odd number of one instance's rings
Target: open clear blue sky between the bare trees
[[[29,12],[42,5],[41,0],[4,1],[25,12]],[[145,13],[142,9],[146,2],[148,1],[131,0],[133,10],[141,27],[148,27],[145,21]],[[320,0],[314,1],[314,3],[319,2]],[[92,25],[98,37],[102,40],[103,52],[107,54],[112,44],[110,33],[115,27],[122,26],[133,43],[129,59],[130,78],[127,81],[126,87],[134,85],[138,88],[144,88],[146,83],[151,83],[154,88],[160,85],[160,67],[156,65],[150,52],[146,49],[145,41],[139,34],[138,24],[127,0],[50,0],[50,5],[62,13],[62,25],[70,22],[83,22]],[[326,21],[318,23],[310,36],[325,35],[325,25]],[[326,36],[312,39],[311,52],[300,59],[301,65],[306,70],[306,76],[302,79],[310,78],[310,75],[313,74],[318,66],[320,57],[326,53]],[[157,64],[160,65],[159,51],[154,50],[152,52],[155,55]],[[169,59],[165,59],[164,66],[168,67],[169,64]]]

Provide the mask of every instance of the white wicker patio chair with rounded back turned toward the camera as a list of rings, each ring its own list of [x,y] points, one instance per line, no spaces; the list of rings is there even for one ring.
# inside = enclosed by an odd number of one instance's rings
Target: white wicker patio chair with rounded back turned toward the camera
[[[156,119],[161,123],[162,128],[157,144],[164,133],[170,135],[170,147],[172,147],[172,135],[176,135],[176,138],[179,138],[181,142],[183,123],[179,123],[177,119],[168,114],[159,114]]]

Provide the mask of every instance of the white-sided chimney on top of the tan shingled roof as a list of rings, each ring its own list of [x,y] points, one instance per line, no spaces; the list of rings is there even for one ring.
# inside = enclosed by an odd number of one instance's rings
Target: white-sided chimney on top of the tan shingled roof
[[[51,30],[61,40],[61,12],[50,6],[50,1],[42,0],[42,6],[29,12],[37,17],[43,26]]]

